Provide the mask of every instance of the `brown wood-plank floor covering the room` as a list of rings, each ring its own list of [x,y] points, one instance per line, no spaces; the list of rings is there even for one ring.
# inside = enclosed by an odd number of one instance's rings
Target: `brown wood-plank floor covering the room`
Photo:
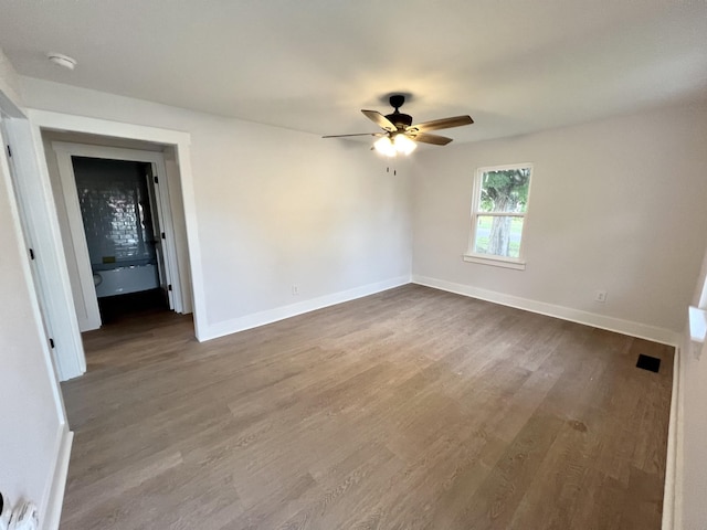
[[[414,285],[192,333],[86,333],[62,529],[661,528],[669,347]]]

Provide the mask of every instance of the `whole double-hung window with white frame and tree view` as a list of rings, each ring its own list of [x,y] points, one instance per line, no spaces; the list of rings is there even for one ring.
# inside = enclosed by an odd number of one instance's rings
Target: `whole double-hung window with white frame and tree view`
[[[523,232],[531,174],[531,163],[476,170],[472,195],[472,235],[465,261],[526,268]]]

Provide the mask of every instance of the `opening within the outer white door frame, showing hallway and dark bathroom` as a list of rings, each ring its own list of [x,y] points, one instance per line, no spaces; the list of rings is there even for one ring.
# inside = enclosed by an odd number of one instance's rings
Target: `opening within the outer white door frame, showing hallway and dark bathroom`
[[[45,138],[80,330],[125,312],[184,311],[165,153]],[[94,139],[94,141],[96,141]],[[54,162],[54,163],[52,163]],[[181,215],[180,215],[181,213]],[[182,259],[187,261],[187,258]]]

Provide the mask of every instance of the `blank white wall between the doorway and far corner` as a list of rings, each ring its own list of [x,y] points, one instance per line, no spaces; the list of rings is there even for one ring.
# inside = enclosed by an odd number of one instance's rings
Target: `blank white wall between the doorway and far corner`
[[[21,81],[28,107],[191,135],[211,335],[408,282],[409,176],[366,145]]]

